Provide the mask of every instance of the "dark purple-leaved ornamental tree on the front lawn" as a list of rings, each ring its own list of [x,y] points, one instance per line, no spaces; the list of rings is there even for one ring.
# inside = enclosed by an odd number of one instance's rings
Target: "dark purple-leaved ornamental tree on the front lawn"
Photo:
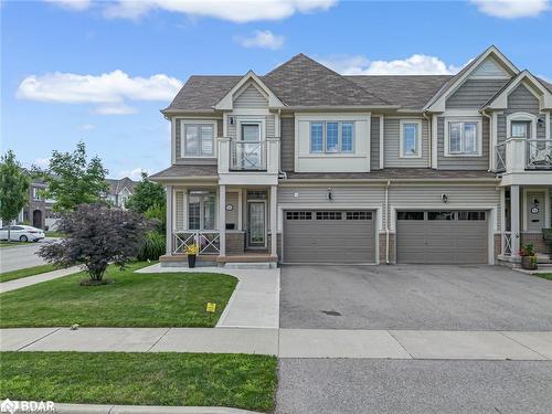
[[[84,265],[92,284],[102,284],[109,263],[120,268],[136,258],[148,224],[134,211],[82,204],[65,212],[59,230],[67,236],[42,246],[39,255],[55,266]]]

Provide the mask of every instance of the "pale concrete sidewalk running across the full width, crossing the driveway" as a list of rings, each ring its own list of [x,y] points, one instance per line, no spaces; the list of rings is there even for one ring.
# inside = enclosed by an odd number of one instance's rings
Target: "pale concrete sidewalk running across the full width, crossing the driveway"
[[[2,351],[220,352],[279,358],[552,360],[552,332],[259,328],[14,328]]]

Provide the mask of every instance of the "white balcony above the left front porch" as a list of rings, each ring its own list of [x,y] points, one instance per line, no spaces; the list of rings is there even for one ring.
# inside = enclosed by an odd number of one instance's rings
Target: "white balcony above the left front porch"
[[[240,141],[219,138],[220,183],[276,184],[279,172],[279,138]]]

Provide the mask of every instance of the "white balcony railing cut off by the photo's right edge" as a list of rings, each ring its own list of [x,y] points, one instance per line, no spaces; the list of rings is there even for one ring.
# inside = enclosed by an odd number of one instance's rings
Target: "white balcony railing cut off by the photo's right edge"
[[[495,146],[495,171],[552,170],[552,139],[509,138]]]

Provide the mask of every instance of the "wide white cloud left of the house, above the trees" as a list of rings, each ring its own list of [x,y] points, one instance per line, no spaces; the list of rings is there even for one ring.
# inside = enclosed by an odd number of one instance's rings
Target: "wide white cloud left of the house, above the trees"
[[[24,78],[17,96],[21,99],[65,104],[98,104],[98,114],[128,114],[130,100],[170,100],[182,87],[182,82],[164,74],[150,77],[130,77],[123,71],[100,75],[46,73]]]

